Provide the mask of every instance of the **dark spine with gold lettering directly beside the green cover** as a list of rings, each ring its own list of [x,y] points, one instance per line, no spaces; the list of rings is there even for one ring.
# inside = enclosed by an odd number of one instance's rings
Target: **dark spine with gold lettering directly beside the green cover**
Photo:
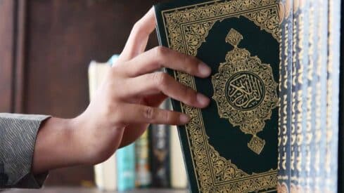
[[[281,23],[279,77],[279,164],[278,192],[290,190],[291,159],[291,72],[293,53],[293,13],[291,0],[281,1],[284,20]],[[283,16],[282,16],[283,17]]]

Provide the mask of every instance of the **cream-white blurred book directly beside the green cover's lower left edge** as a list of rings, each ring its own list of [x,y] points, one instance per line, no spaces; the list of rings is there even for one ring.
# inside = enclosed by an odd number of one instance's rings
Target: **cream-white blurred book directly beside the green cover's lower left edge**
[[[171,187],[185,189],[188,186],[188,178],[183,153],[181,152],[177,126],[170,126],[170,145]]]

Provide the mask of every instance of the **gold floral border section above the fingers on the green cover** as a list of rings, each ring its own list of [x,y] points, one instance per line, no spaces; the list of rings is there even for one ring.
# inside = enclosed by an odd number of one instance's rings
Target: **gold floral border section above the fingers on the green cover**
[[[196,55],[215,22],[230,17],[245,17],[255,25],[272,34],[280,41],[279,1],[277,0],[232,0],[200,4],[193,8],[164,11],[165,26],[168,29],[169,47],[182,53]],[[215,18],[214,18],[215,17]],[[212,18],[212,20],[209,20]],[[197,21],[197,22],[195,22]],[[186,51],[186,47],[188,47]]]

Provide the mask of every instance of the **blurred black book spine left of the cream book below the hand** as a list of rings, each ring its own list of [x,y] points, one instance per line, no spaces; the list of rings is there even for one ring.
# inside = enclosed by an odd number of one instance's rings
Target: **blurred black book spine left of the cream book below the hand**
[[[167,101],[160,106],[167,108]],[[165,125],[151,128],[151,173],[153,187],[170,187],[170,133]]]

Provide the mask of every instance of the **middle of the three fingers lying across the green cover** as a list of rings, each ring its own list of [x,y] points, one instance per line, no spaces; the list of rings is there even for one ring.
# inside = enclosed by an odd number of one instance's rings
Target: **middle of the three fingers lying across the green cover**
[[[196,93],[188,86],[180,84],[172,76],[163,72],[144,74],[133,79],[129,79],[131,89],[124,95],[154,95],[163,93],[170,98],[184,102],[186,105],[203,108],[209,105],[209,98],[201,93]]]

